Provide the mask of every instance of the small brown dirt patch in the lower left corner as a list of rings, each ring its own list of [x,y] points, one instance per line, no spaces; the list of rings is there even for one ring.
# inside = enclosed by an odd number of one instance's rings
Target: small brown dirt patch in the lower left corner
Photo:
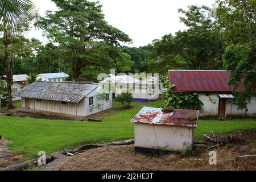
[[[10,143],[10,141],[4,138],[0,140],[0,168],[22,163],[24,159],[26,159],[22,155],[15,155],[15,153],[8,148],[8,144]]]

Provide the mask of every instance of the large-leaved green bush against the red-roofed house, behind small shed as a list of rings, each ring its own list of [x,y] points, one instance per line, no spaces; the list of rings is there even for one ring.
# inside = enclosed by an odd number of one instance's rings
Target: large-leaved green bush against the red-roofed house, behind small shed
[[[174,109],[202,109],[204,104],[199,100],[197,93],[172,92],[175,85],[168,85],[168,90],[164,93],[165,106],[172,106]]]

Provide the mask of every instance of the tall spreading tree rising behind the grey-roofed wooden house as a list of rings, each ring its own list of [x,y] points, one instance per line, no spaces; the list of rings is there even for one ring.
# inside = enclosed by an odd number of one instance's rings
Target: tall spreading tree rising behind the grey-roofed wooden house
[[[72,76],[79,80],[82,70],[101,64],[85,55],[93,42],[106,41],[110,46],[119,42],[130,42],[129,36],[110,26],[104,20],[99,2],[86,0],[53,0],[58,11],[47,11],[35,25],[47,32],[53,42],[67,47],[72,61]]]

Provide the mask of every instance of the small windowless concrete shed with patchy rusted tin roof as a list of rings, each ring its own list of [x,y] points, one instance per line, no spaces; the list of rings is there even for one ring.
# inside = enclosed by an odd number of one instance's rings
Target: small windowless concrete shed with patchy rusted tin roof
[[[176,109],[172,113],[164,113],[162,108],[143,107],[131,119],[135,123],[135,151],[159,147],[168,151],[184,151],[194,143],[198,115],[198,110]]]

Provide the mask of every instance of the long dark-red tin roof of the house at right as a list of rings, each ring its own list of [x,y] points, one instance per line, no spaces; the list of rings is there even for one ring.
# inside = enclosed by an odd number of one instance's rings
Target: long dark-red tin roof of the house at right
[[[228,85],[230,71],[169,70],[176,92],[232,92]],[[242,87],[238,88],[241,90]]]

